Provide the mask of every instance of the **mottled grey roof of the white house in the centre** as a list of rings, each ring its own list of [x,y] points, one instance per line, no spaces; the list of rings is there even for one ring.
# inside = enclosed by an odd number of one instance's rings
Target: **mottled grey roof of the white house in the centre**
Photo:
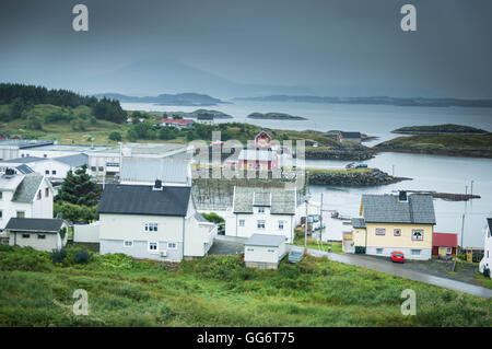
[[[254,206],[267,206],[272,214],[295,214],[295,190],[283,187],[236,187],[234,213],[253,213]]]

